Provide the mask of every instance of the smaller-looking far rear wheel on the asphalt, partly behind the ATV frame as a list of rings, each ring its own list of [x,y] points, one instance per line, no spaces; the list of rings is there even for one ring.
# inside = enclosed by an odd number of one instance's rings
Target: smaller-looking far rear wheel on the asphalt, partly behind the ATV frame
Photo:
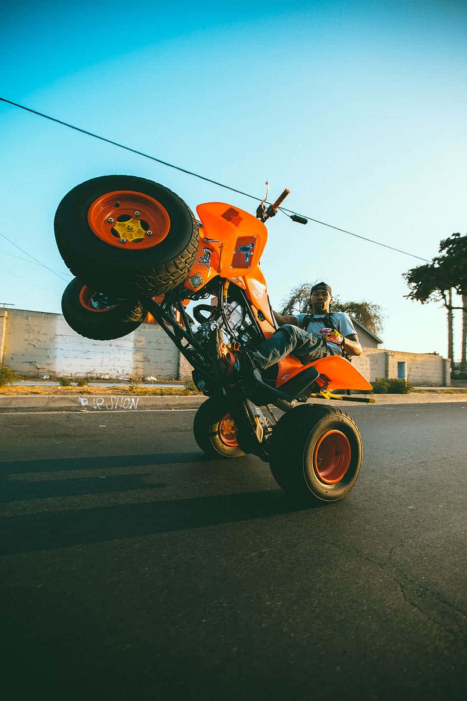
[[[208,399],[195,414],[195,441],[209,458],[241,458],[246,453],[237,443],[237,429],[224,402]]]

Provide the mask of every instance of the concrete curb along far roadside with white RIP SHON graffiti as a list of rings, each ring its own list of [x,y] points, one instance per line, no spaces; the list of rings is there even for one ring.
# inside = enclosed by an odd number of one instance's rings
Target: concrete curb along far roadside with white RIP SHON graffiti
[[[0,414],[29,411],[170,411],[197,409],[206,397],[204,395],[0,395]],[[328,404],[327,400],[310,400],[318,404]],[[375,405],[382,404],[431,404],[442,402],[463,402],[465,394],[436,394],[434,392],[411,393],[408,395],[375,395]],[[371,404],[357,402],[331,402],[335,407],[361,407]]]

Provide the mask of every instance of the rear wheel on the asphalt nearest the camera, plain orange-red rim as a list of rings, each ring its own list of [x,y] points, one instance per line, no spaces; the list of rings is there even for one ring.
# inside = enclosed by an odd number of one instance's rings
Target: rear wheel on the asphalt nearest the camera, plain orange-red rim
[[[337,501],[360,472],[361,436],[344,411],[302,404],[281,416],[270,444],[270,468],[279,486],[300,501]]]

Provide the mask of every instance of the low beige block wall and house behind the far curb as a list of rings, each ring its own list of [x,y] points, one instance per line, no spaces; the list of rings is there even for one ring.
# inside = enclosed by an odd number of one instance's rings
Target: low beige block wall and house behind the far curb
[[[399,377],[415,385],[450,385],[446,358],[386,351],[378,348],[381,339],[354,324],[363,353],[353,364],[370,382]],[[92,341],[76,334],[62,314],[26,309],[0,309],[0,362],[25,377],[191,377],[190,365],[157,324],[141,324],[123,339]]]

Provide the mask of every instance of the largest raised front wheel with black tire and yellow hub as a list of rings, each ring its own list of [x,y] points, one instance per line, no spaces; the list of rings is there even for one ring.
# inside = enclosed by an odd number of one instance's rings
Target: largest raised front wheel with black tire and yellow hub
[[[76,186],[58,206],[54,226],[71,272],[120,296],[172,290],[186,280],[198,251],[198,225],[188,205],[166,187],[130,175]]]

